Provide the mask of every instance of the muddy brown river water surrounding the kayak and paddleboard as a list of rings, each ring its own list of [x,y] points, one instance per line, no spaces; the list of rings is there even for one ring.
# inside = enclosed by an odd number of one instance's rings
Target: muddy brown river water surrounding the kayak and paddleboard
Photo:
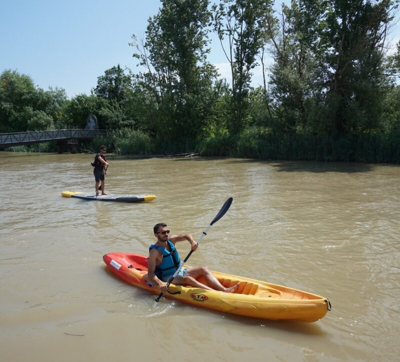
[[[106,192],[157,198],[62,197],[94,190],[92,158],[0,152],[2,361],[399,360],[400,166],[110,158]],[[322,295],[324,318],[155,303],[105,269],[105,253],[147,254],[159,221],[198,239],[230,196],[188,264]]]

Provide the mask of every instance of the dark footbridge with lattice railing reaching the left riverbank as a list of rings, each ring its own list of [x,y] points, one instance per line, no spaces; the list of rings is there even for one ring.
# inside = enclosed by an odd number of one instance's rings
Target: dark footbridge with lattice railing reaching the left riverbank
[[[105,134],[105,129],[54,129],[32,132],[0,133],[0,147],[48,142],[51,140],[92,139]]]

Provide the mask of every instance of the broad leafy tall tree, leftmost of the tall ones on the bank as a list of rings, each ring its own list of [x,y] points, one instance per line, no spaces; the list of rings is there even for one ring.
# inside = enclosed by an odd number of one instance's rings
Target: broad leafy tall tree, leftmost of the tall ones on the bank
[[[206,61],[209,49],[208,0],[163,0],[148,19],[145,39],[133,36],[139,65],[138,86],[157,104],[154,132],[168,138],[195,139],[213,101],[210,88],[215,68]]]

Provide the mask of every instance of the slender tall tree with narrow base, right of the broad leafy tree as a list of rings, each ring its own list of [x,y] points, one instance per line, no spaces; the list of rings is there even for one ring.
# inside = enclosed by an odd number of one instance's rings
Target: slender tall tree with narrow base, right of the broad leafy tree
[[[219,5],[212,6],[214,31],[230,64],[232,133],[239,133],[245,125],[251,69],[257,65],[255,57],[262,48],[266,20],[272,14],[271,5],[271,0],[221,0]]]

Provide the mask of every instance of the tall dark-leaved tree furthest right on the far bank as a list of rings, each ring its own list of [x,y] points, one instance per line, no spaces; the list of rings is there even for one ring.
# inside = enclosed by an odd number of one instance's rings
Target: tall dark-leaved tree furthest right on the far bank
[[[388,81],[385,43],[396,7],[392,0],[328,1],[320,43],[331,128],[338,134],[379,125]]]

